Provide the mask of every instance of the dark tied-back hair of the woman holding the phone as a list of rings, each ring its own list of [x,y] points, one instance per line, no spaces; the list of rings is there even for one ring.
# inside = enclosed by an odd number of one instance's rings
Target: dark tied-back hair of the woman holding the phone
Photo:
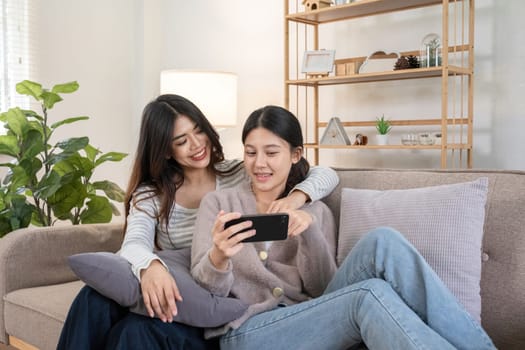
[[[279,106],[265,106],[253,111],[244,123],[244,128],[242,130],[243,144],[250,131],[256,128],[265,128],[279,136],[290,144],[291,151],[298,147],[304,147],[301,124],[295,115],[285,108]],[[308,170],[310,170],[310,164],[304,157],[301,157],[297,163],[292,165],[290,174],[286,181],[285,190],[279,198],[288,195],[288,192],[290,192],[295,185],[302,182],[306,178]]]

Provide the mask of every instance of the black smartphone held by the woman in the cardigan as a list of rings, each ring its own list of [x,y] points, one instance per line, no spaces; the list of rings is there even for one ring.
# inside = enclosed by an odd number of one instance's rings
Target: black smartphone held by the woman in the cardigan
[[[243,215],[224,224],[224,228],[250,220],[253,225],[237,233],[255,229],[255,236],[248,237],[243,242],[279,241],[288,237],[288,214],[254,214]]]

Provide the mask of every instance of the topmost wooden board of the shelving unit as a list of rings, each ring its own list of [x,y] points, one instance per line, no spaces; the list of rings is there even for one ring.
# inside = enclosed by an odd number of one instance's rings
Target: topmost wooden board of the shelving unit
[[[308,24],[321,24],[383,13],[441,5],[441,0],[361,0],[315,11],[289,14],[286,19]]]

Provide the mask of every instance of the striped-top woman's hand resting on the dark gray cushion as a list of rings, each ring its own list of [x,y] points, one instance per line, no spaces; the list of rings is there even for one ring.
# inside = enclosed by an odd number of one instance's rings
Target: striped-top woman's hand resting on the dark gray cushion
[[[157,315],[163,322],[172,322],[177,315],[176,301],[182,301],[175,279],[159,260],[140,272],[140,288],[150,317]]]

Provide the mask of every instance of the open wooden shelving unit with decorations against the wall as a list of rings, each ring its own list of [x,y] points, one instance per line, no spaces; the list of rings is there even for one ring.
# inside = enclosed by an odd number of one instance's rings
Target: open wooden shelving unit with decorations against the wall
[[[301,0],[284,0],[285,3],[285,106],[291,108],[290,91],[292,88],[308,89],[308,93],[303,94],[305,105],[310,105],[307,113],[308,121],[313,123],[313,134],[305,135],[307,143],[305,147],[313,151],[314,164],[319,162],[320,149],[356,149],[356,150],[376,150],[376,149],[422,149],[435,150],[441,152],[441,168],[449,167],[450,158],[456,156],[458,153],[460,158],[460,167],[472,168],[472,126],[473,126],[473,66],[474,66],[474,0],[360,0],[345,5],[331,6],[315,11],[305,12],[301,5]],[[299,55],[301,52],[294,52],[292,57],[292,48],[298,47],[299,30],[298,26],[303,26],[307,30],[303,30],[313,42],[310,47],[304,47],[304,50],[318,50],[319,42],[319,27],[325,24],[349,21],[357,18],[376,16],[386,13],[394,13],[400,11],[407,11],[416,8],[425,8],[430,6],[441,7],[442,28],[441,28],[441,66],[429,68],[415,68],[405,70],[391,70],[374,73],[360,73],[349,74],[344,76],[329,75],[327,77],[307,77],[300,73]],[[458,11],[458,6],[461,6],[461,18],[452,11]],[[293,12],[290,9],[293,8]],[[451,19],[455,22],[452,23]],[[466,19],[466,20],[465,20]],[[458,29],[459,26],[459,29]],[[451,29],[454,28],[454,33]],[[467,32],[467,35],[461,35],[458,38],[457,31]],[[295,31],[295,33],[294,33]],[[422,33],[424,35],[425,33]],[[292,42],[292,39],[294,38]],[[418,48],[414,48],[418,49]],[[417,54],[419,51],[406,52],[402,54]],[[460,57],[460,59],[458,59]],[[453,58],[453,59],[452,59]],[[292,59],[295,60],[294,67],[292,66]],[[356,60],[364,58],[353,58]],[[454,64],[449,64],[454,63]],[[291,69],[293,68],[293,69]],[[292,72],[292,73],[291,73]],[[293,75],[293,76],[292,76]],[[449,91],[449,85],[454,84],[455,80],[460,77],[464,79],[466,88],[460,89],[460,96],[454,101],[454,106],[450,101],[450,96],[454,92]],[[363,84],[370,82],[386,82],[413,79],[434,79],[441,85],[441,110],[436,110],[437,118],[421,118],[421,119],[407,119],[407,120],[391,120],[392,125],[400,127],[410,126],[424,126],[432,125],[440,128],[442,134],[441,144],[438,145],[374,145],[368,144],[366,146],[350,146],[350,145],[323,145],[320,144],[320,129],[326,128],[327,121],[321,120],[319,116],[319,106],[323,103],[320,99],[319,89],[325,86],[341,85],[341,84]],[[297,94],[299,95],[299,94]],[[296,96],[296,98],[299,98]],[[437,98],[437,97],[436,97]],[[456,101],[460,101],[458,106]],[[451,112],[451,107],[458,111]],[[344,127],[370,127],[370,130],[375,125],[374,120],[342,120]],[[458,142],[455,138],[449,139],[449,129],[451,127],[461,126],[461,135]],[[313,139],[313,142],[311,141]],[[457,152],[455,152],[457,151]],[[463,154],[466,153],[466,157]]]

